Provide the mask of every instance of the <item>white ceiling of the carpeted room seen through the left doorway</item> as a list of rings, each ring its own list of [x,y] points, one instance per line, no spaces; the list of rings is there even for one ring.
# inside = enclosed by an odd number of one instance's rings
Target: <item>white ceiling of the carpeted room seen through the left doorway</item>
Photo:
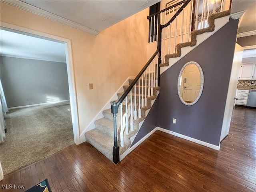
[[[65,62],[65,44],[0,30],[1,56]]]

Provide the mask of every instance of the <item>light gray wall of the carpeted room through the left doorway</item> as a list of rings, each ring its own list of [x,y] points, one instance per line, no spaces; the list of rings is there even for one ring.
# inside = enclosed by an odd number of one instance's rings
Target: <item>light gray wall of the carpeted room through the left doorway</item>
[[[69,99],[66,63],[1,56],[8,108]]]

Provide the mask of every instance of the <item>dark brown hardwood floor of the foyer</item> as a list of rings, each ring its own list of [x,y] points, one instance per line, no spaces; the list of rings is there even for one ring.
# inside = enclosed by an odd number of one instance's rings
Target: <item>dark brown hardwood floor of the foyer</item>
[[[5,176],[1,185],[25,185],[27,190],[48,178],[52,192],[255,192],[255,109],[234,109],[220,148],[156,131],[114,165],[83,143]]]

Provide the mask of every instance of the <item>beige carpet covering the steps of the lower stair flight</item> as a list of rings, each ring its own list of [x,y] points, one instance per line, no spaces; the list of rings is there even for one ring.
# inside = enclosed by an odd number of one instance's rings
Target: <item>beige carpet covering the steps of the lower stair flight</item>
[[[133,79],[129,80],[129,84],[133,81]],[[140,79],[140,85],[142,84],[142,80]],[[144,82],[145,84],[145,82]],[[129,85],[124,86],[124,91],[128,88]],[[142,92],[142,88],[145,90],[145,86],[140,86],[140,92]],[[136,99],[139,99],[138,93],[138,82],[136,88]],[[139,123],[146,118],[146,110],[151,108],[151,101],[156,99],[157,91],[160,90],[160,87],[153,88],[153,96],[147,96],[147,105],[141,108],[141,118],[137,118],[133,120],[134,122],[134,131],[130,130],[130,93],[127,96],[128,102],[128,118],[129,118],[129,134],[126,135],[124,130],[124,146],[121,147],[120,138],[118,137],[118,145],[120,147],[119,154],[123,154],[128,148],[130,148],[131,140],[130,138],[134,136],[139,130]],[[118,93],[118,99],[122,96],[124,92]],[[132,97],[134,98],[134,89],[132,90]],[[141,99],[141,95],[140,95]],[[112,101],[113,102],[113,101]],[[111,102],[111,104],[112,104]],[[117,102],[117,100],[116,100]],[[123,116],[125,114],[125,100],[122,102]],[[138,104],[137,104],[138,105]],[[134,108],[134,103],[132,104]],[[133,111],[134,113],[134,111]],[[103,111],[103,118],[98,119],[94,122],[95,129],[90,130],[85,133],[86,142],[90,143],[94,148],[100,151],[104,156],[106,156],[109,160],[113,161],[113,146],[114,146],[114,122],[113,122],[113,114],[111,113],[111,109],[106,109]],[[118,109],[117,114],[117,129],[118,136],[120,135],[120,107]]]

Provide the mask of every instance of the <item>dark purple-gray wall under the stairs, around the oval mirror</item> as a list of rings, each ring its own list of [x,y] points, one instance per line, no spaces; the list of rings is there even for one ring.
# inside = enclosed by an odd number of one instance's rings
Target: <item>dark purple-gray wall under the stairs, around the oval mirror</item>
[[[160,94],[152,106],[134,142],[142,139],[156,125],[173,132],[218,146],[224,117],[228,84],[236,44],[238,20],[230,21],[181,58],[160,76]],[[204,72],[201,98],[192,106],[178,96],[180,70],[186,62],[196,61]],[[177,123],[172,124],[176,118]]]

